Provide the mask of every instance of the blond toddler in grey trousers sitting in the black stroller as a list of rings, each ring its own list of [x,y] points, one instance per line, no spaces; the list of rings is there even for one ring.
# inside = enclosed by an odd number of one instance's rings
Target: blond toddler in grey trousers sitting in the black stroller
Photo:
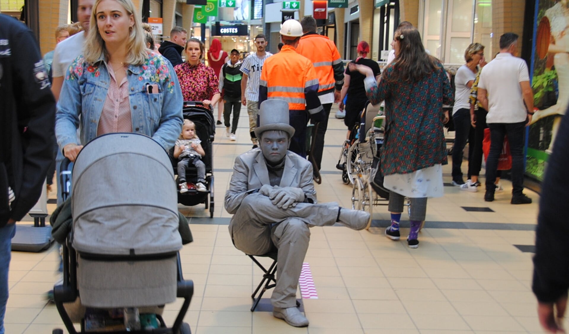
[[[201,157],[205,156],[205,151],[201,147],[201,140],[196,135],[196,124],[189,119],[184,119],[182,133],[176,140],[174,147],[174,157],[178,161],[178,182],[180,183],[180,193],[188,192],[188,183],[185,179],[185,169],[188,165],[195,166],[197,170],[197,191],[208,191],[205,187],[205,164]]]

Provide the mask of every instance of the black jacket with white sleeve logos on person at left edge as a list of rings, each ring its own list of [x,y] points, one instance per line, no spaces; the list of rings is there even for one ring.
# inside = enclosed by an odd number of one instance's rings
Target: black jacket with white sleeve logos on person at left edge
[[[0,14],[0,227],[38,202],[53,160],[55,99],[32,32]],[[15,200],[8,205],[8,186]]]

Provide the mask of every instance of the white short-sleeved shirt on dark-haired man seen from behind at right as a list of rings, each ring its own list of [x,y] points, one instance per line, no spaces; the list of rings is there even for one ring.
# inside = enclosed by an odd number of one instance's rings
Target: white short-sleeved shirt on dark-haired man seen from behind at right
[[[511,53],[498,53],[480,73],[479,89],[488,91],[486,123],[520,123],[527,117],[519,83],[529,81],[526,62]]]

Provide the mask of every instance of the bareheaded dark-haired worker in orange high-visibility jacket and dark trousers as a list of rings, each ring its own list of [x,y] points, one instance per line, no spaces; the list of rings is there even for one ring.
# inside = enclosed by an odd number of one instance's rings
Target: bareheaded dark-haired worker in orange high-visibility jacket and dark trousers
[[[324,151],[324,135],[328,128],[328,116],[332,103],[340,102],[340,91],[344,85],[344,62],[336,44],[327,36],[316,34],[316,20],[312,16],[304,16],[300,21],[303,35],[296,52],[312,61],[319,80],[318,97],[324,107],[324,120],[318,124],[312,157],[320,170],[322,152]],[[315,171],[316,172],[316,171]],[[315,173],[316,174],[316,173]]]

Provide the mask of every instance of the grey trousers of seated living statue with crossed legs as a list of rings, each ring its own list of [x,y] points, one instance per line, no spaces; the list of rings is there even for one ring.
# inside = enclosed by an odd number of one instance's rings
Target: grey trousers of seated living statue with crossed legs
[[[276,307],[296,306],[296,289],[312,226],[331,226],[336,222],[338,206],[298,203],[283,210],[269,197],[251,194],[245,197],[229,224],[233,243],[250,255],[278,249],[277,286],[271,296]]]

